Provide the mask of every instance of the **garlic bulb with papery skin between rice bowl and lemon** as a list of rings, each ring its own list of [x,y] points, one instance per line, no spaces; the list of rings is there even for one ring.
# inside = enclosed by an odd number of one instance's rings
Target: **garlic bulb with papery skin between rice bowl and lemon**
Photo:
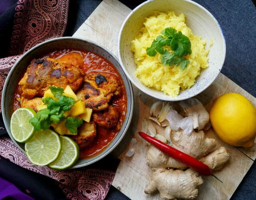
[[[180,101],[179,105],[184,109],[188,116],[193,116],[194,118],[198,114],[198,127],[194,127],[194,129],[202,130],[209,122],[209,113],[198,99],[186,99],[184,101]]]

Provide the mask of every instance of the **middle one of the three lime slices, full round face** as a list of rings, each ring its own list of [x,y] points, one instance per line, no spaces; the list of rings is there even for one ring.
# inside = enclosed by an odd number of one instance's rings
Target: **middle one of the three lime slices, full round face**
[[[34,136],[25,143],[28,159],[39,166],[48,165],[56,160],[60,149],[60,137],[50,129],[36,131]]]

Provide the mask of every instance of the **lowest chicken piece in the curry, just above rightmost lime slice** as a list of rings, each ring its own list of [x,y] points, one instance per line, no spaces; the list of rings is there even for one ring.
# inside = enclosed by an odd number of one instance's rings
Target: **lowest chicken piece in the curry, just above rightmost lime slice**
[[[96,137],[96,125],[93,121],[85,122],[78,128],[77,135],[71,138],[78,144],[79,149],[88,147]]]

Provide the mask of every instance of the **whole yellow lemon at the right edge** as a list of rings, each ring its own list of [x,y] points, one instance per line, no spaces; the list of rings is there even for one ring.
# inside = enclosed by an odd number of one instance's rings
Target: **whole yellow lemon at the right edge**
[[[226,93],[212,104],[210,121],[218,137],[229,145],[252,147],[256,136],[256,109],[246,97]]]

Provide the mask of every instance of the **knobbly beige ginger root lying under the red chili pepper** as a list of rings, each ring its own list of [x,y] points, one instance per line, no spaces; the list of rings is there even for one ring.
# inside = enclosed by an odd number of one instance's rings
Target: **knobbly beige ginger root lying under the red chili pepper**
[[[203,131],[193,131],[190,136],[185,135],[182,130],[171,131],[170,139],[172,147],[201,160],[212,170],[219,170],[230,159],[224,147],[214,150],[216,141],[206,138]],[[153,172],[144,191],[146,194],[158,190],[165,200],[177,198],[190,200],[198,196],[197,187],[203,183],[203,180],[195,170],[191,168],[184,170],[188,168],[186,165],[152,145],[147,150],[147,164]]]

